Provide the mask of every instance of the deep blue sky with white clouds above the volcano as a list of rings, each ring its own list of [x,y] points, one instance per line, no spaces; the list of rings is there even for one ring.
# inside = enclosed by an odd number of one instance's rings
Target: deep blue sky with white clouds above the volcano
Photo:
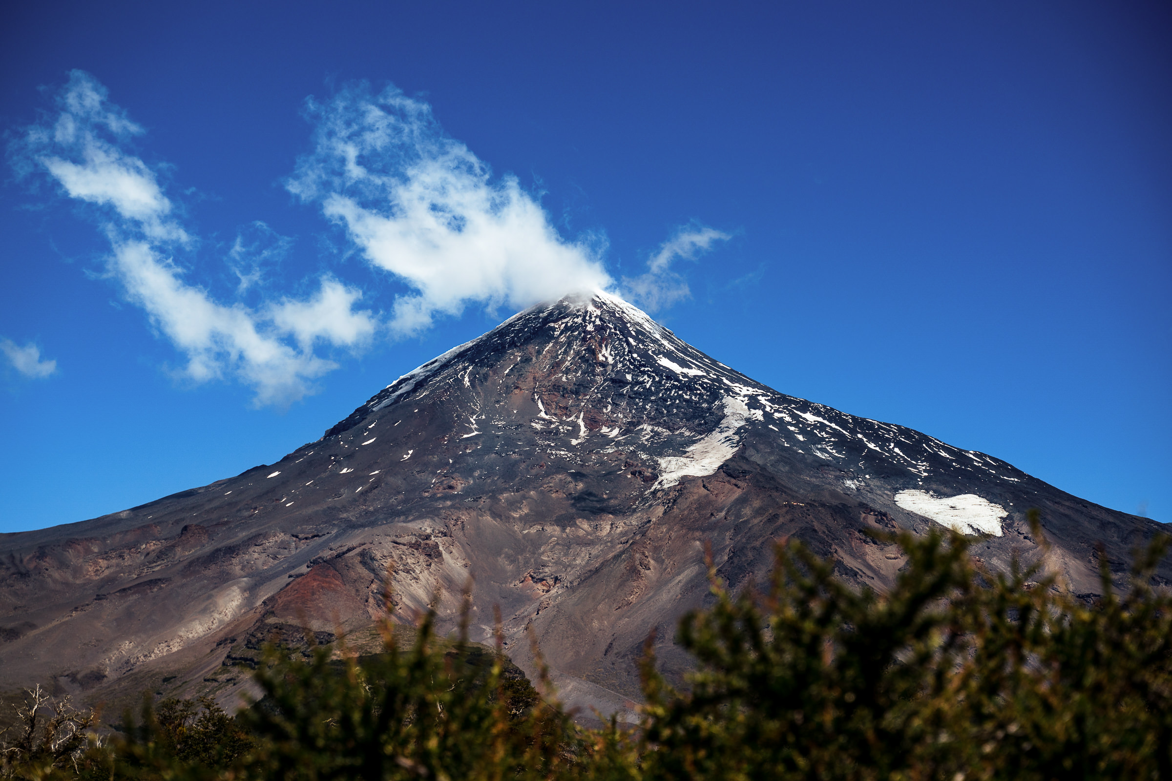
[[[0,530],[277,460],[600,281],[1172,520],[1166,4],[2,13]]]

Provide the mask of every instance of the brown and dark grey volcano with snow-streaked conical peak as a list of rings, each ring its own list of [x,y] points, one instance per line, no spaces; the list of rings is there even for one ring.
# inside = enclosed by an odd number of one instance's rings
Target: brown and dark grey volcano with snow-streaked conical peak
[[[567,297],[400,377],[274,464],[0,535],[0,688],[226,701],[258,638],[359,642],[384,592],[397,619],[434,605],[451,626],[471,582],[472,639],[492,642],[498,608],[517,664],[533,670],[532,637],[564,700],[621,712],[652,630],[668,674],[687,670],[673,635],[710,598],[706,547],[734,589],[798,539],[881,591],[906,560],[864,530],[934,525],[982,535],[994,568],[1044,557],[1086,596],[1099,556],[1122,577],[1163,528],[778,393],[614,296]]]

